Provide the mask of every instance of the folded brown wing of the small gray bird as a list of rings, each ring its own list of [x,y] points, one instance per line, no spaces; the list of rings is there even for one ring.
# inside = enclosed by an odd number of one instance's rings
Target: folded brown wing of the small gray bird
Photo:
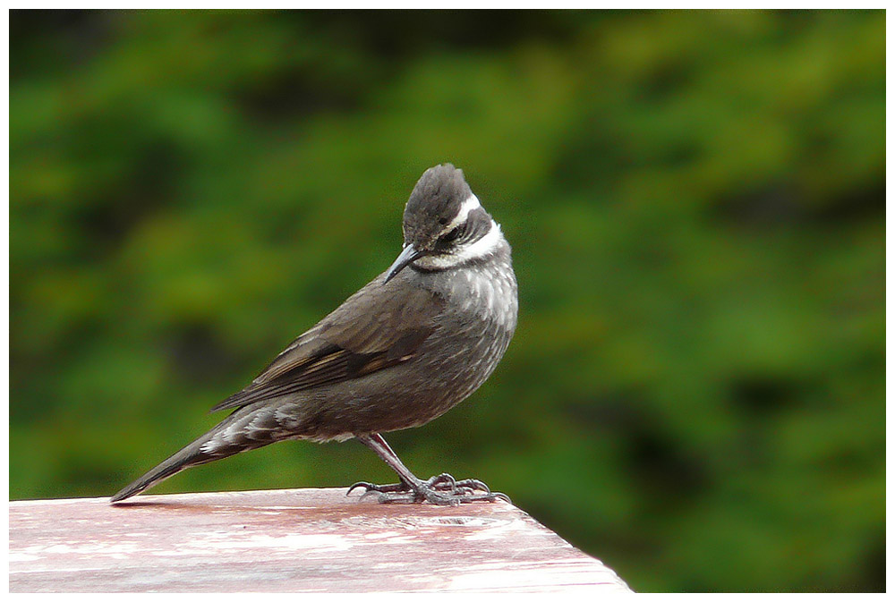
[[[211,411],[362,377],[411,360],[435,330],[444,305],[422,289],[396,293],[394,284],[383,285],[377,278],[354,293],[286,347],[251,385]]]

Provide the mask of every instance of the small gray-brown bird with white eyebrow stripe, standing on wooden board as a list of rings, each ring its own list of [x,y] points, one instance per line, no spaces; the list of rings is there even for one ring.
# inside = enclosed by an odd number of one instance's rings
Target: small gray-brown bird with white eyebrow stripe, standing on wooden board
[[[120,502],[176,472],[284,439],[354,437],[397,472],[355,483],[380,502],[508,499],[477,479],[418,479],[380,433],[418,427],[488,378],[516,330],[516,275],[500,226],[454,165],[426,170],[404,211],[404,250],[385,272],[299,336],[212,411],[208,433],[122,489]]]

